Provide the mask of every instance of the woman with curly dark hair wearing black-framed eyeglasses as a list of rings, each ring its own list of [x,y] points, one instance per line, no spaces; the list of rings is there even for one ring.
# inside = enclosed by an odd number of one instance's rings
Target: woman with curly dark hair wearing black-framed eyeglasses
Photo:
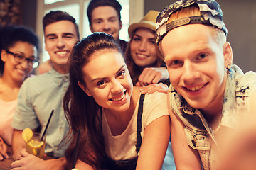
[[[38,66],[38,37],[21,26],[0,28],[0,160],[8,159],[11,145],[11,120],[18,91],[33,68]]]

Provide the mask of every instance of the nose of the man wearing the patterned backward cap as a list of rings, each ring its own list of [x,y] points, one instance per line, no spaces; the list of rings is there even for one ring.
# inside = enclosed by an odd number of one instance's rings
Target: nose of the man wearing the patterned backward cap
[[[193,81],[194,79],[198,79],[200,76],[197,67],[192,62],[184,62],[183,64],[183,74],[182,79],[183,81]]]

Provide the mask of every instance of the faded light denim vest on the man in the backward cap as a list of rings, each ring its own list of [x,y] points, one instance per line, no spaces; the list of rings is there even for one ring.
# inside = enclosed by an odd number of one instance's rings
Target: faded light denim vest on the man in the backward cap
[[[170,86],[171,109],[184,124],[188,145],[200,154],[203,169],[216,169],[218,145],[215,132],[202,113],[189,106],[185,99]],[[256,73],[232,65],[228,70],[220,127],[236,128],[241,115],[250,114],[250,96],[256,90]]]

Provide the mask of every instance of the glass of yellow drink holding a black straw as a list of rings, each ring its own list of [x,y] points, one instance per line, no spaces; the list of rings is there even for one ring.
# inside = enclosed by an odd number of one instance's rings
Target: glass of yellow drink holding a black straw
[[[33,154],[36,157],[43,159],[44,149],[46,147],[46,136],[41,136],[40,133],[33,133],[28,142],[26,142],[26,152]]]

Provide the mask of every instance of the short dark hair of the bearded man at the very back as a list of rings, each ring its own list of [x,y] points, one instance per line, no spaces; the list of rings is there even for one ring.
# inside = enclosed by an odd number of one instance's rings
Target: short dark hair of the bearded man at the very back
[[[112,6],[117,11],[119,21],[121,21],[121,9],[122,6],[117,0],[91,0],[87,8],[87,16],[90,25],[92,24],[92,11],[99,6]]]

